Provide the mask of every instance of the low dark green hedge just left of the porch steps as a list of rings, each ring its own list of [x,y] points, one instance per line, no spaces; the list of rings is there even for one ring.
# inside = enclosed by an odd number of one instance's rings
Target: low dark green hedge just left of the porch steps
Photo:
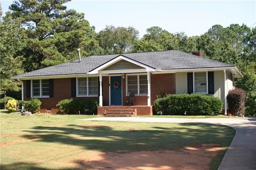
[[[61,114],[97,114],[97,99],[64,99],[56,105]]]

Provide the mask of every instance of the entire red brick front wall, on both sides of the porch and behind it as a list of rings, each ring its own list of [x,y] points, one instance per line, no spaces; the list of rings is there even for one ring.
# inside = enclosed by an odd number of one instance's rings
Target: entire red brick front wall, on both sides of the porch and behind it
[[[24,100],[29,100],[26,97],[26,81],[24,83]],[[126,96],[126,78],[122,79],[123,105],[130,105],[127,103]],[[156,95],[175,94],[175,73],[170,74],[151,74],[151,106],[153,106]],[[56,106],[58,101],[71,98],[71,80],[54,79],[54,97],[39,98],[42,102],[41,113],[46,113],[47,108],[52,110],[52,113],[58,112]],[[79,98],[98,98],[98,97],[79,97]],[[109,105],[109,77],[102,78],[102,98],[103,106]],[[147,96],[135,96],[134,103],[136,106],[147,106]]]

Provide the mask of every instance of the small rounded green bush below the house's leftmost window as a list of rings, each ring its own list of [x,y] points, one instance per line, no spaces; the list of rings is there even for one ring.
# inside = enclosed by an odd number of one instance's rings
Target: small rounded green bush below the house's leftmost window
[[[39,112],[41,105],[42,105],[41,101],[37,98],[32,98],[27,101],[25,100],[19,101],[20,108],[23,106],[25,111],[31,112],[33,114]]]

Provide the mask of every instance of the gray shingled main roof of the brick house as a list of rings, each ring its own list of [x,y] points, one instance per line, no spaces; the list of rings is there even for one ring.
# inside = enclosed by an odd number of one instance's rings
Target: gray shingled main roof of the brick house
[[[59,65],[46,67],[31,72],[27,72],[18,77],[37,77],[45,75],[67,75],[67,74],[85,74],[96,67],[105,64],[111,59],[119,56],[102,55],[102,56],[89,56],[82,58],[81,62],[72,61]],[[212,68],[212,67],[230,67],[232,65],[221,63],[218,61],[210,60],[209,58],[199,57],[193,54],[181,52],[179,50],[168,50],[161,52],[144,52],[144,53],[127,53],[122,54],[132,60],[146,64],[155,69],[161,70],[174,70],[174,69],[198,69],[198,68]]]

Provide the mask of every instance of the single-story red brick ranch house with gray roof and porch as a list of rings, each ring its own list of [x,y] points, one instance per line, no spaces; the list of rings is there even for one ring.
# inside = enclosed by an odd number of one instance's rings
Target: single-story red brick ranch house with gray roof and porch
[[[227,93],[240,77],[235,66],[204,58],[201,52],[167,50],[89,56],[14,79],[22,83],[22,100],[42,101],[41,113],[56,113],[58,101],[73,97],[99,99],[99,115],[152,115],[157,95],[191,93],[222,99],[227,114]],[[130,94],[133,106],[127,102]]]

